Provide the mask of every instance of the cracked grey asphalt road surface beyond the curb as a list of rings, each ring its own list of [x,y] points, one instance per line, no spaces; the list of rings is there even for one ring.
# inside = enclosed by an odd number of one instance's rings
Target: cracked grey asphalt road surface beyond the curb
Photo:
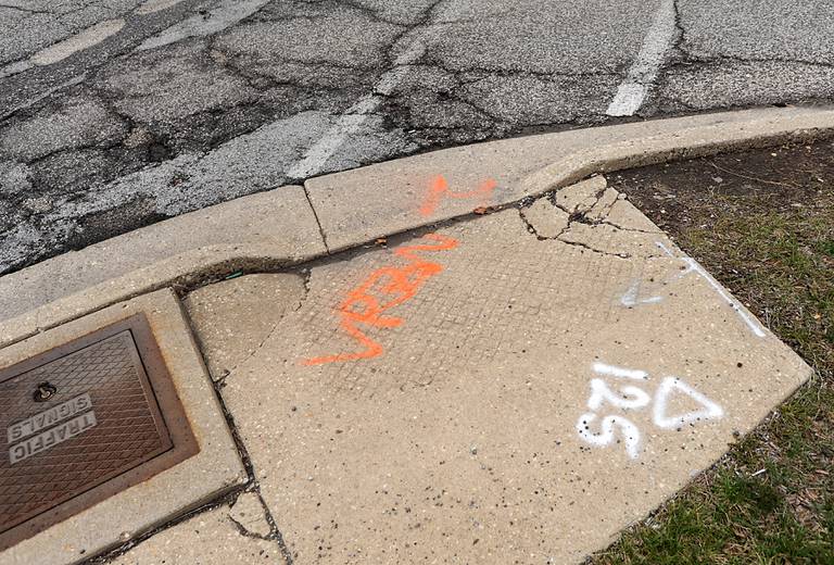
[[[830,0],[0,0],[0,274],[327,172],[834,98]]]

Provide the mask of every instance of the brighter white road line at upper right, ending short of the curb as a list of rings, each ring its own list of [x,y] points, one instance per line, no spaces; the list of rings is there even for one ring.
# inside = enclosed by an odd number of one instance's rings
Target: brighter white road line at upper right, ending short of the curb
[[[630,116],[640,110],[648,89],[657,78],[666,52],[675,34],[674,0],[660,0],[652,27],[643,39],[637,58],[629,68],[626,80],[620,84],[617,95],[608,105],[609,116]]]

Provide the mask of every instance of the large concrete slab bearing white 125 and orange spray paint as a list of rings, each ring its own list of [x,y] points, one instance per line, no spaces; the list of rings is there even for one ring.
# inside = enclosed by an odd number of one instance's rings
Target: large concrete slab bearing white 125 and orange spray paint
[[[656,228],[606,221],[574,242],[509,209],[311,266],[222,391],[296,563],[580,562],[809,377]]]

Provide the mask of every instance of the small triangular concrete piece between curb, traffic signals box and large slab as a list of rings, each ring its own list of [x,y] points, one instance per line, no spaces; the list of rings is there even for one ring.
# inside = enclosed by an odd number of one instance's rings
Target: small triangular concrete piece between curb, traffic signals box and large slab
[[[254,354],[305,293],[304,279],[287,273],[249,275],[191,292],[185,306],[212,378],[225,378]]]

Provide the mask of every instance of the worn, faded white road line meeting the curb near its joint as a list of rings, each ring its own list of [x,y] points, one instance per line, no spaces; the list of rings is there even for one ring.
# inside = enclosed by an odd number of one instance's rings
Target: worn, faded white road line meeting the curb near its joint
[[[403,79],[407,66],[415,63],[426,52],[422,41],[415,41],[394,61],[394,67],[387,71],[374,87],[374,92],[361,98],[349,108],[305,153],[304,158],[292,165],[287,175],[290,178],[308,178],[320,173],[327,161],[359,130],[374,111],[382,103],[383,97],[391,95]]]

